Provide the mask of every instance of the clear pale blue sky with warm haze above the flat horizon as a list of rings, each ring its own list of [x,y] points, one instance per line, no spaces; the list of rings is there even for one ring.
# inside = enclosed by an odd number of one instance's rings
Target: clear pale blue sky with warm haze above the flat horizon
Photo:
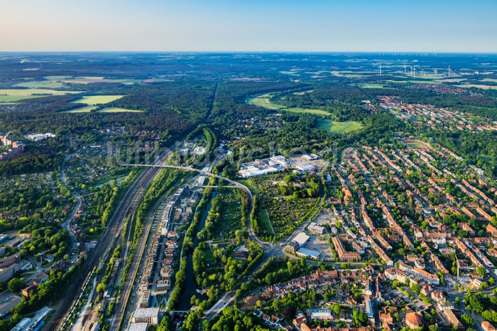
[[[497,0],[0,0],[0,51],[497,53]]]

